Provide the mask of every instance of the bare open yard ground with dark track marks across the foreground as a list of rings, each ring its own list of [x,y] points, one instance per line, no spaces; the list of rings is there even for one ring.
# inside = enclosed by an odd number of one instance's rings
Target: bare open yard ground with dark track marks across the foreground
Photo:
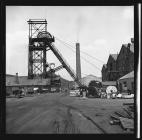
[[[110,125],[110,115],[123,110],[133,99],[70,97],[47,93],[6,99],[8,134],[125,134],[120,125]]]

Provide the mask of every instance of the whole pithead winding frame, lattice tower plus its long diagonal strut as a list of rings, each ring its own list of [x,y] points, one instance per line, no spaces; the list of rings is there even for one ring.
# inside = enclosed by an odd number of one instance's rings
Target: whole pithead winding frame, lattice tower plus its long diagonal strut
[[[30,19],[29,24],[29,50],[28,50],[28,78],[33,79],[35,77],[47,78],[48,73],[46,68],[49,64],[46,63],[46,52],[51,50],[58,58],[62,65],[56,67],[53,72],[65,68],[70,76],[82,86],[78,77],[74,73],[73,69],[63,58],[59,50],[55,47],[55,39],[49,32],[47,32],[46,19]],[[79,45],[79,44],[78,44]],[[52,72],[51,72],[52,73]],[[81,77],[81,76],[80,76]]]

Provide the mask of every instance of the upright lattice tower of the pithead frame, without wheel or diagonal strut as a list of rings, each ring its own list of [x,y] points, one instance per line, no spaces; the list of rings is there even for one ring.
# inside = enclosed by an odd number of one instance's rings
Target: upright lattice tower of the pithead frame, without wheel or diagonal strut
[[[36,76],[45,78],[46,75],[46,50],[47,46],[42,38],[38,38],[41,32],[47,32],[47,21],[43,19],[30,19],[29,24],[29,54],[28,54],[28,78]]]

